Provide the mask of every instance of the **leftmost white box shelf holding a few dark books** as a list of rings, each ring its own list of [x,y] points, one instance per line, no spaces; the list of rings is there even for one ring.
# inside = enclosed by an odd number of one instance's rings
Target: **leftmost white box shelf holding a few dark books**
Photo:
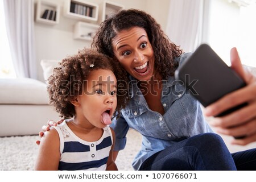
[[[59,21],[60,5],[54,2],[38,0],[36,4],[36,22],[45,24],[58,24]]]

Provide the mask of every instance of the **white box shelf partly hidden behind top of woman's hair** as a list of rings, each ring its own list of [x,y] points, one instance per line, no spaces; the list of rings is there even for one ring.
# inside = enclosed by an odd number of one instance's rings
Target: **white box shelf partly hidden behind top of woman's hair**
[[[125,6],[119,5],[118,3],[104,1],[100,6],[99,16],[101,17],[100,22],[103,22],[109,15],[115,14],[118,11],[125,9]]]

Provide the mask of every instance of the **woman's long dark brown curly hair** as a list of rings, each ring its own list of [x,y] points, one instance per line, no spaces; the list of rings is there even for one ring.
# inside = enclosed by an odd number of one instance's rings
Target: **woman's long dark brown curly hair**
[[[154,50],[155,71],[160,73],[163,79],[166,79],[168,75],[173,76],[178,65],[174,59],[179,57],[182,51],[179,46],[176,46],[168,39],[160,24],[144,11],[135,9],[122,10],[106,19],[98,28],[93,38],[92,47],[96,48],[98,52],[116,59],[112,40],[117,36],[118,32],[129,30],[132,27],[141,27],[147,32],[148,39]]]

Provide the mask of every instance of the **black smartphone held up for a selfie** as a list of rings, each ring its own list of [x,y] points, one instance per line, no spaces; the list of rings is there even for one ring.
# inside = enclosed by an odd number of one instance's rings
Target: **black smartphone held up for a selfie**
[[[201,44],[175,71],[180,80],[204,107],[212,104],[225,94],[246,85],[242,78],[213,51],[207,44]],[[241,104],[215,117],[232,113],[247,105]],[[239,137],[241,138],[241,137]]]

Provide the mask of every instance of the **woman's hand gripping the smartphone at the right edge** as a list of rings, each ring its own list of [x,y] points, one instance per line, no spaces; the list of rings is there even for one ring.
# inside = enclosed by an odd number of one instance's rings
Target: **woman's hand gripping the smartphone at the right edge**
[[[220,100],[206,107],[205,115],[214,116],[227,109],[247,102],[247,106],[234,111],[224,117],[213,118],[210,123],[221,134],[234,137],[246,136],[243,139],[234,139],[233,144],[245,145],[256,141],[256,78],[243,69],[237,49],[230,52],[232,68],[247,83],[247,86],[227,94]]]

